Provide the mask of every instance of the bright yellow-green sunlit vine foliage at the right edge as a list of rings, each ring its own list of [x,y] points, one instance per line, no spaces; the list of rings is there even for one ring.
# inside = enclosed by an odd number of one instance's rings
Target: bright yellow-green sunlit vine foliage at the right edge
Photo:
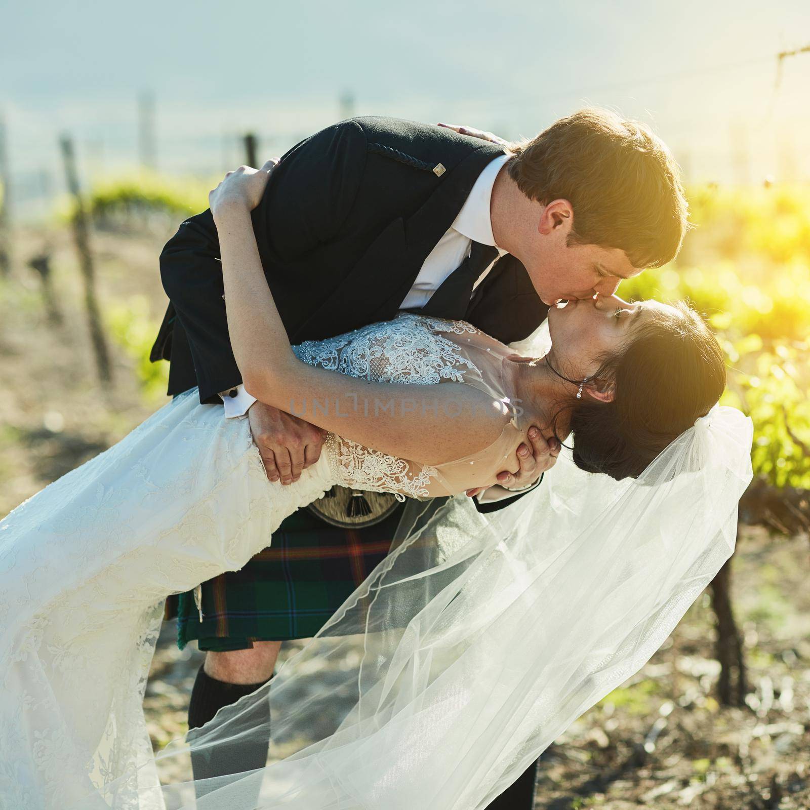
[[[646,271],[619,294],[685,298],[708,319],[728,360],[722,402],[754,424],[755,473],[810,488],[810,190],[705,188],[690,203],[684,252],[705,263]]]

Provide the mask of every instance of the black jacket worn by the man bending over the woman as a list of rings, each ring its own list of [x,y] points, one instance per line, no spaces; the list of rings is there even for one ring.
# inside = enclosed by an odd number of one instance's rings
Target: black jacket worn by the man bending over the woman
[[[453,130],[358,117],[288,151],[252,214],[267,283],[292,343],[393,318],[420,268],[503,149]],[[443,168],[443,171],[442,171]],[[228,339],[211,211],[190,217],[160,254],[170,299],[151,360],[171,360],[168,393],[200,401],[241,383]],[[467,321],[504,343],[548,307],[509,254],[475,291]]]

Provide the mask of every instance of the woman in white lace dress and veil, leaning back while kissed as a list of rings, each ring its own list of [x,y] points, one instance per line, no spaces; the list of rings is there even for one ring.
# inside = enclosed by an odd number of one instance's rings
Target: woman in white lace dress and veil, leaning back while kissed
[[[731,553],[750,427],[715,407],[723,355],[696,313],[569,302],[542,358],[412,313],[291,347],[250,220],[271,170],[210,195],[232,346],[245,387],[328,431],[324,452],[272,483],[246,420],[192,390],[0,522],[3,808],[484,807],[650,657]],[[159,786],[141,702],[166,595],[241,568],[333,484],[493,484],[529,424],[573,437],[548,487],[488,519],[450,501],[296,656],[309,667],[195,732],[237,763],[265,735],[286,745],[275,765]],[[348,637],[364,651],[343,667],[349,714],[313,693],[285,715]]]

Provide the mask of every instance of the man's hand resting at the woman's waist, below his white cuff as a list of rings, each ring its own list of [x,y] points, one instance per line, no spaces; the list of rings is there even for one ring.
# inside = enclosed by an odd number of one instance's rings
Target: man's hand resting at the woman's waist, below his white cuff
[[[271,481],[292,484],[321,457],[326,431],[314,424],[260,402],[250,406],[248,421]]]

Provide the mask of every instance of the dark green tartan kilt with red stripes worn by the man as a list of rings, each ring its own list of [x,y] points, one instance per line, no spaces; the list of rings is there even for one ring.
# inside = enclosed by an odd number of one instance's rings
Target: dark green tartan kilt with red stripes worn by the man
[[[243,569],[203,582],[202,621],[193,591],[166,600],[177,646],[225,652],[315,635],[389,552],[402,513],[398,505],[371,526],[344,528],[298,509]]]

